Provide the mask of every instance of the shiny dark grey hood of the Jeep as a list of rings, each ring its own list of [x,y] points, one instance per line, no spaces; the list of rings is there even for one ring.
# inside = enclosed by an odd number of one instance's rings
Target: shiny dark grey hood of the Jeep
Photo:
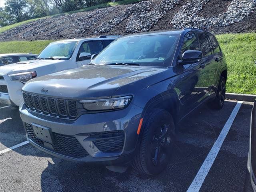
[[[144,66],[85,66],[32,79],[22,89],[64,98],[106,97],[121,86],[138,83],[164,70]]]

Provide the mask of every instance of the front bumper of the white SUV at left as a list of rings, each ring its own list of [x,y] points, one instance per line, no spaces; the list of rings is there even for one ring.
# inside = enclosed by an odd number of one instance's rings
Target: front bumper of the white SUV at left
[[[0,80],[0,84],[7,86],[8,89],[8,93],[0,93],[0,103],[12,106],[20,106],[23,101],[21,89],[24,84],[19,81],[10,80],[7,74],[0,75],[4,77],[4,79]]]

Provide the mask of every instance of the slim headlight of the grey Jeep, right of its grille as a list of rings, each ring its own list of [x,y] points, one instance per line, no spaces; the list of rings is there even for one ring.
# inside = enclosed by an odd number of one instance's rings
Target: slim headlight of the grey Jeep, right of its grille
[[[82,100],[84,108],[89,111],[99,110],[115,110],[125,108],[132,100],[132,96],[110,98],[110,99],[98,99],[98,100]]]

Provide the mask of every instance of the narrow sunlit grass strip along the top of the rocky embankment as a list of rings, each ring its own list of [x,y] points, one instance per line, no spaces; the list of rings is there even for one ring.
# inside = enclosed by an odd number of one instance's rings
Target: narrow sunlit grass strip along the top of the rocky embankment
[[[70,11],[70,12],[66,12],[66,13],[60,13],[60,14],[56,14],[56,15],[52,15],[52,16],[90,11],[90,10],[94,10],[94,9],[97,9],[97,8],[104,8],[104,7],[110,7],[110,6],[116,6],[116,5],[131,4],[131,3],[139,2],[139,1],[142,1],[142,0],[121,0],[121,1],[117,1],[117,2],[108,2],[108,3],[103,3],[103,4],[96,5],[96,6],[92,6],[92,7],[88,7],[88,8],[84,8],[84,9],[80,9],[80,10],[75,10],[75,11]],[[51,17],[51,16],[47,16],[47,17]],[[30,20],[14,23],[14,24],[11,24],[11,25],[8,25],[8,26],[0,27],[0,33],[4,32],[4,31],[7,31],[11,28],[20,26],[22,24],[25,24],[25,23],[28,23],[28,22],[31,22],[31,21],[35,21],[35,20],[38,20],[38,19],[44,19],[44,18],[47,18],[47,17],[30,19]]]

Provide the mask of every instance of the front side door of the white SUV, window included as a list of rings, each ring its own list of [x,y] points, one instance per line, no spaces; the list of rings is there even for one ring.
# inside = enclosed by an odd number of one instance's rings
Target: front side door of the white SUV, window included
[[[101,40],[97,40],[97,41],[86,41],[83,42],[82,45],[79,48],[77,57],[76,57],[76,63],[77,66],[83,66],[83,65],[87,65],[88,63],[90,63],[90,58],[83,58],[80,59],[79,55],[82,52],[86,52],[86,53],[90,53],[90,54],[98,54],[103,50],[103,43]]]

